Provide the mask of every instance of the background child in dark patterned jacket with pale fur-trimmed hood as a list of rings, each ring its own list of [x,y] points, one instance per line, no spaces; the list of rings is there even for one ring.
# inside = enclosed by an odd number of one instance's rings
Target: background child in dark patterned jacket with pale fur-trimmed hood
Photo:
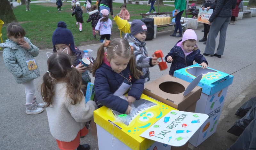
[[[92,34],[93,34],[94,39],[96,38],[95,27],[96,27],[100,18],[101,18],[101,16],[100,16],[100,13],[98,11],[97,5],[92,5],[91,12],[89,12],[89,19],[86,20],[86,22],[91,22],[92,21]]]

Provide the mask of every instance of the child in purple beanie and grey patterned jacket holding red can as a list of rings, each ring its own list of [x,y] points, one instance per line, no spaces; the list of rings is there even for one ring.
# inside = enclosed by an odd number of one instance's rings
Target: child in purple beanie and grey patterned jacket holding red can
[[[148,48],[145,43],[147,32],[148,29],[144,22],[141,20],[132,20],[131,34],[127,33],[124,37],[133,47],[136,67],[143,73],[145,82],[150,80],[149,67],[157,65],[159,62],[155,57],[148,57]]]

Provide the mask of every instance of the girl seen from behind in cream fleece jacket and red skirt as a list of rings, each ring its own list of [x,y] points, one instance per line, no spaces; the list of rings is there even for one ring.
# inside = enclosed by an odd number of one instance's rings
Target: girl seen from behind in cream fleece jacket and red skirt
[[[52,136],[61,150],[89,149],[88,144],[80,145],[80,136],[87,134],[85,122],[92,119],[96,104],[93,101],[85,104],[82,78],[69,55],[54,53],[47,65],[41,95]]]

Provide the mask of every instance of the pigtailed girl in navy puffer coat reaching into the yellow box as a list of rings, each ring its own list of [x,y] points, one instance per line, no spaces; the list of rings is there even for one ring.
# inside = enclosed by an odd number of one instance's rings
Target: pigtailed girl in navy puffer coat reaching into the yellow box
[[[107,47],[107,52],[104,51]],[[95,101],[122,114],[130,114],[129,104],[140,99],[144,89],[142,73],[136,69],[133,48],[124,38],[106,41],[97,51],[97,59],[92,68],[95,77]],[[131,85],[127,101],[115,96],[115,91],[126,83]]]

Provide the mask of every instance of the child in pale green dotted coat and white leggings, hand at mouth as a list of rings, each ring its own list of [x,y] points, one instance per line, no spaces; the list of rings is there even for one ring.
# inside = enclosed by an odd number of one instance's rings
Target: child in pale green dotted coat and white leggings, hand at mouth
[[[23,84],[26,93],[26,114],[39,114],[44,111],[44,104],[36,101],[34,79],[40,76],[35,58],[39,49],[25,37],[26,32],[18,23],[7,26],[8,39],[1,43],[3,58],[7,69],[17,83]]]

